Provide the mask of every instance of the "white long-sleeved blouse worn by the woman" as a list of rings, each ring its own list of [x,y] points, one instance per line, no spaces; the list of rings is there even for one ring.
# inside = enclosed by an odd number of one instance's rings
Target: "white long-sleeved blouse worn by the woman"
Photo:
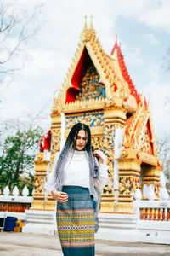
[[[59,153],[55,154],[54,164],[52,171],[48,176],[48,181],[45,184],[45,189],[51,194],[52,190],[56,190],[54,187],[54,171],[59,159]],[[99,165],[99,177],[94,178],[94,187],[102,190],[107,183],[108,172],[107,165]],[[89,165],[88,154],[86,151],[75,150],[74,154],[70,153],[64,170],[64,186],[80,186],[83,188],[89,188]]]

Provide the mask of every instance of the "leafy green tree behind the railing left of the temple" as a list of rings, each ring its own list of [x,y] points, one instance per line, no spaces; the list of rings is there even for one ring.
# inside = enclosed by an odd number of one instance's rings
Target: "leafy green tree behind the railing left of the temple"
[[[23,189],[25,185],[28,185],[30,190],[33,189],[31,170],[33,170],[33,160],[39,149],[39,141],[42,134],[43,131],[39,126],[34,129],[25,128],[22,131],[18,129],[14,135],[7,135],[4,138],[3,132],[1,132],[1,189],[6,185],[8,185],[9,189],[13,189],[15,185],[19,189]],[[27,175],[24,180],[20,178],[23,175]]]

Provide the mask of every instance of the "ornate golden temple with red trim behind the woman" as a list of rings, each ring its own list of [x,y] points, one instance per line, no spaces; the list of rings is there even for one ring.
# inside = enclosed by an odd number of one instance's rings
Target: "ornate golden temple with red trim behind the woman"
[[[54,96],[51,130],[42,137],[41,152],[35,161],[36,188],[31,210],[55,209],[55,201],[45,194],[43,185],[61,147],[61,113],[65,114],[64,137],[72,125],[82,122],[91,129],[94,149],[107,155],[109,181],[102,192],[101,219],[105,214],[132,216],[128,224],[133,225],[136,201],[154,201],[155,206],[143,204],[139,219],[159,220],[165,215],[169,219],[168,209],[162,210],[163,215],[156,207],[156,201],[160,202],[163,196],[167,200],[168,196],[161,193],[165,185],[161,187],[162,167],[150,103],[135,89],[117,38],[111,55],[107,55],[92,20],[89,27],[85,20],[71,66],[58,96]]]

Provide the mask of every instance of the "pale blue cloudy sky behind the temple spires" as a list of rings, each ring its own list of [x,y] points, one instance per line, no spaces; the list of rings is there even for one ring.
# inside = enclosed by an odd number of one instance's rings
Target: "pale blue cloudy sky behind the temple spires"
[[[18,0],[17,0],[18,1]],[[7,1],[9,2],[9,0]],[[19,2],[19,1],[18,1]],[[93,15],[94,29],[107,54],[115,44],[122,44],[127,70],[136,89],[150,97],[156,137],[169,131],[170,71],[165,57],[170,47],[169,0],[22,0],[31,9],[42,6],[45,22],[36,38],[26,46],[25,68],[3,80],[1,120],[23,113],[38,113],[45,118],[40,125],[50,129],[54,91],[71,64],[80,41],[84,16]],[[16,61],[16,60],[15,60]],[[9,83],[10,81],[10,83]]]

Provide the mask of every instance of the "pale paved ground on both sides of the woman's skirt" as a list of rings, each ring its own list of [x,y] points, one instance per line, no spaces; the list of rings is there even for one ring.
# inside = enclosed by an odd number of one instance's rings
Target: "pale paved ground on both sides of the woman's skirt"
[[[170,255],[170,246],[120,241],[96,241],[96,256]],[[62,256],[57,236],[0,232],[1,256]],[[87,255],[88,256],[88,255]]]

